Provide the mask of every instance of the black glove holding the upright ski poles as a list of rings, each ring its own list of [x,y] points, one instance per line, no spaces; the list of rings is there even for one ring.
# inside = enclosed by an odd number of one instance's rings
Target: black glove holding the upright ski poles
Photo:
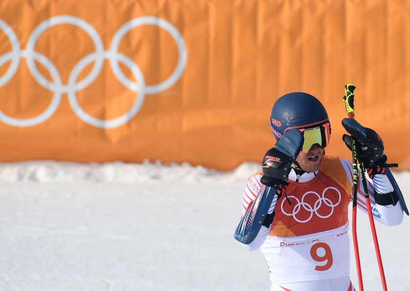
[[[384,155],[383,140],[373,129],[362,127],[359,122],[349,118],[343,118],[342,125],[358,141],[358,154],[364,167],[372,168],[385,164],[387,157]],[[351,137],[343,134],[343,141],[347,148],[352,150]]]

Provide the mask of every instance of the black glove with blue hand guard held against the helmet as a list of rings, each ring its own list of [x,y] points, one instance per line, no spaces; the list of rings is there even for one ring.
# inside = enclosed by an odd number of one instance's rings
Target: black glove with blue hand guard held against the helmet
[[[275,148],[263,157],[260,182],[270,187],[277,187],[288,180],[293,161],[299,155],[303,145],[303,135],[297,129],[289,130],[278,140]]]

